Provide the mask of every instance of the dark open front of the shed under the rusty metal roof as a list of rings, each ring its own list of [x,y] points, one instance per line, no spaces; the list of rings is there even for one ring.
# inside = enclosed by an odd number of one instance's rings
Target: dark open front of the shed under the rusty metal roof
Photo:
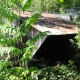
[[[70,42],[70,39],[74,39],[74,36],[72,34],[48,36],[33,56],[33,66],[42,68],[54,66],[57,63],[67,64],[75,54],[75,49]]]

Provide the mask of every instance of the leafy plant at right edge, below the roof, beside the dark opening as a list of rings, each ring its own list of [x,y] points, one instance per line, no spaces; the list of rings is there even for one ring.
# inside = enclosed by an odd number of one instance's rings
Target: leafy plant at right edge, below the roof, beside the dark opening
[[[75,40],[71,40],[72,45],[76,49],[76,54],[74,55],[75,65],[77,69],[80,70],[80,29],[78,29],[78,34],[75,36]]]

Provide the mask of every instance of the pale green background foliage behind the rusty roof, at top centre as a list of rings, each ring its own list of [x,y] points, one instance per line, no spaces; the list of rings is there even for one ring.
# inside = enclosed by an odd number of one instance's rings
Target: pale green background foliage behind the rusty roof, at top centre
[[[59,11],[57,3],[59,3],[59,0],[34,0],[30,10],[36,12],[57,12]]]

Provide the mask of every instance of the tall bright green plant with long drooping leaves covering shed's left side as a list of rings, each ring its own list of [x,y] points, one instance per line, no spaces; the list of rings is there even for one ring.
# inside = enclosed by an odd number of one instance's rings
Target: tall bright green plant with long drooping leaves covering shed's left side
[[[38,21],[40,15],[35,13],[20,24],[20,11],[26,11],[31,2],[32,0],[0,1],[0,80],[27,80],[26,62],[32,60],[31,52],[36,49],[33,44],[47,34],[40,33],[24,42],[23,38],[29,36],[32,25]],[[17,27],[12,26],[16,20]]]

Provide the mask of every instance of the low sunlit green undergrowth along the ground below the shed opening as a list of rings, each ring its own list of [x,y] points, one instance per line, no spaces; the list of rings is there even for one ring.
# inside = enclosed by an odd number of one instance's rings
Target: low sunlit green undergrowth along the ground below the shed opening
[[[1,70],[0,70],[1,71]],[[3,79],[1,78],[3,77]],[[4,78],[6,77],[6,79]],[[0,74],[1,80],[77,80],[80,74],[76,71],[73,61],[68,65],[57,64],[54,67],[45,67],[38,69],[31,67],[23,69],[21,67],[12,67],[7,70],[2,69]]]

